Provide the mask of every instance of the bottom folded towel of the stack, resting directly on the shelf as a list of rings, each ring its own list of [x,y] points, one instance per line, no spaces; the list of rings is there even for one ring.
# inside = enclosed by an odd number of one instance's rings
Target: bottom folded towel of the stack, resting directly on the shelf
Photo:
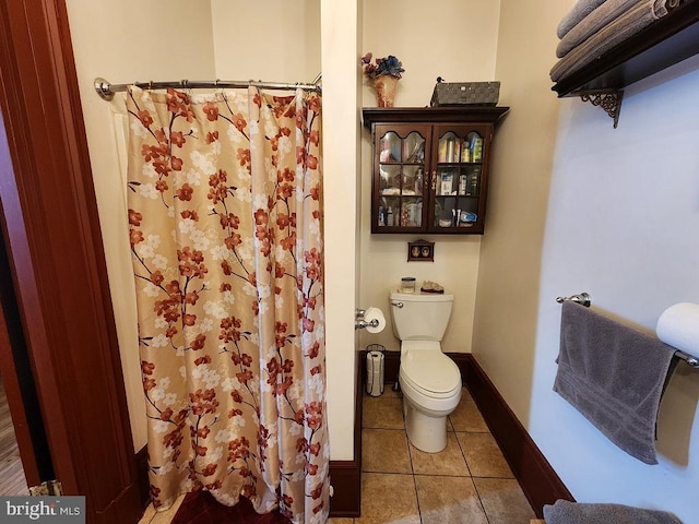
[[[667,9],[663,8],[664,2],[665,0],[644,0],[624,12],[558,60],[550,70],[550,80],[558,82],[571,75],[667,14]]]

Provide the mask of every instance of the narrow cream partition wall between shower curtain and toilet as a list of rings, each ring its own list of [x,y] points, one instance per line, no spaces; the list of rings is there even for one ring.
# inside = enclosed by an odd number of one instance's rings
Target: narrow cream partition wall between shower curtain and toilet
[[[325,352],[331,457],[354,456],[356,336],[359,278],[357,229],[357,0],[321,0],[323,69],[323,192]]]

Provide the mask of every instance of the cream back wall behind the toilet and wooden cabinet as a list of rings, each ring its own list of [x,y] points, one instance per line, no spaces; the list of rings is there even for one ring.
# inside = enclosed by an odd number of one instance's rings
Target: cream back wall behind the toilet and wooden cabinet
[[[363,48],[375,57],[394,55],[405,72],[399,82],[396,106],[429,105],[435,81],[488,81],[495,76],[499,2],[491,0],[365,0]],[[357,61],[358,63],[358,61]],[[364,79],[363,106],[376,107],[376,92]],[[376,306],[387,317],[380,334],[362,332],[359,347],[383,344],[400,348],[393,336],[388,294],[403,276],[436,281],[454,293],[454,307],[442,348],[471,350],[479,236],[371,235],[371,142],[362,140],[362,307]],[[497,145],[496,145],[497,150]],[[496,153],[497,154],[497,153]],[[488,212],[489,213],[489,212]],[[489,224],[486,223],[486,235]],[[424,238],[436,242],[435,262],[407,260],[407,242]]]

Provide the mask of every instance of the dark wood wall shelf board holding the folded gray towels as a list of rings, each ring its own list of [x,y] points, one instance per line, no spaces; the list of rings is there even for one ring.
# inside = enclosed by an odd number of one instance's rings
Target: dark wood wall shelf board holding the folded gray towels
[[[559,97],[620,91],[699,53],[699,0],[691,0],[557,82]]]

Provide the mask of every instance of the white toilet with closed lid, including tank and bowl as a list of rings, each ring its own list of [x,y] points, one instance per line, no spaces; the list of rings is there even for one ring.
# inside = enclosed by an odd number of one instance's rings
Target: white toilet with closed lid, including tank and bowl
[[[411,443],[437,453],[447,446],[447,417],[461,400],[461,373],[441,352],[453,295],[391,291],[393,333],[401,341],[399,383]]]

